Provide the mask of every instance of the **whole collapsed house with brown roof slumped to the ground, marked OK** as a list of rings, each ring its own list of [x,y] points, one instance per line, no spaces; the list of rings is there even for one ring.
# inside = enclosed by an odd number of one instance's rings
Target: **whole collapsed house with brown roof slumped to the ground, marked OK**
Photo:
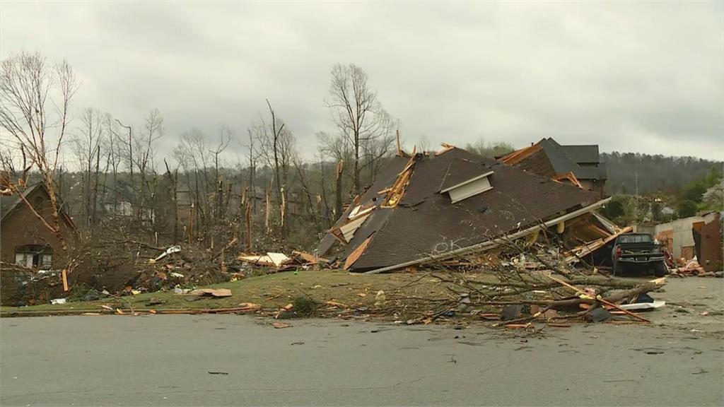
[[[434,154],[393,157],[324,236],[319,255],[337,256],[353,272],[401,269],[484,251],[542,228],[563,234],[571,219],[608,201],[443,146]],[[612,227],[605,235],[616,232]]]

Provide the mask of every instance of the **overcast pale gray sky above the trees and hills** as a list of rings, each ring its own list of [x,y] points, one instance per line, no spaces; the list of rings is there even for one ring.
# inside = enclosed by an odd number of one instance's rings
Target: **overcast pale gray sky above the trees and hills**
[[[83,80],[76,111],[140,125],[158,108],[162,154],[190,127],[245,138],[269,98],[311,157],[314,134],[334,131],[332,65],[353,62],[410,147],[553,137],[723,159],[722,4],[6,0],[0,54],[67,59]]]

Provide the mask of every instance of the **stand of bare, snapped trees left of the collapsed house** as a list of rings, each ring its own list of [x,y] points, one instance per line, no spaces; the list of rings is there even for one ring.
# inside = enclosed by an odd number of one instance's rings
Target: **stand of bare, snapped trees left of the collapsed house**
[[[245,251],[310,246],[399,151],[399,122],[355,64],[332,67],[324,104],[335,130],[316,134],[313,159],[299,154],[292,126],[269,100],[243,131],[190,128],[168,160],[159,154],[168,137],[159,109],[135,125],[86,107],[70,127],[79,89],[68,62],[20,52],[1,63],[2,170],[19,196],[33,181],[48,185],[53,222],[28,207],[57,235],[63,207],[88,238],[112,230],[210,248],[237,238]],[[243,160],[224,158],[232,141],[245,147]]]

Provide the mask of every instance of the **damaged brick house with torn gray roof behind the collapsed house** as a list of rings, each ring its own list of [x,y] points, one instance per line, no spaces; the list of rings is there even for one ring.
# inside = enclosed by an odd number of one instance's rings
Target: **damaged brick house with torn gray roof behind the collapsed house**
[[[601,162],[598,146],[595,144],[563,146],[552,138],[544,138],[498,159],[505,164],[571,183],[604,196],[606,163]]]

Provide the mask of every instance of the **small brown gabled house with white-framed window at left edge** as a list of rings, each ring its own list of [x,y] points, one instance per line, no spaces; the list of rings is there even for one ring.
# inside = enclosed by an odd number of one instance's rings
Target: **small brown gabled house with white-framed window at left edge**
[[[38,182],[22,191],[25,197],[49,225],[53,215],[48,189]],[[66,244],[75,237],[75,223],[60,209],[60,230]],[[0,195],[0,259],[5,264],[18,264],[29,269],[51,269],[57,266],[62,245],[58,237],[43,225],[20,196],[9,194],[3,187]],[[5,267],[3,267],[5,268]]]

